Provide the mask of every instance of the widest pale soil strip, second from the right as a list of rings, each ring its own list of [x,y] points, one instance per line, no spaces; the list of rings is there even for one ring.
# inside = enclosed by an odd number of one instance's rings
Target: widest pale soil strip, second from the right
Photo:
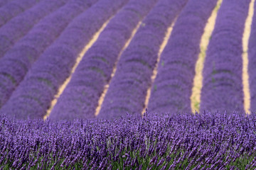
[[[193,88],[191,94],[191,111],[198,111],[200,109],[200,98],[201,98],[201,89],[203,86],[203,62],[206,57],[206,50],[208,47],[208,43],[210,41],[210,36],[213,33],[213,29],[215,26],[215,21],[218,13],[218,9],[220,8],[220,4],[223,0],[218,0],[217,5],[213,9],[213,12],[208,18],[208,23],[206,23],[206,27],[204,28],[204,33],[201,37],[200,49],[201,52],[198,55],[198,60],[196,62],[196,74],[193,79]]]

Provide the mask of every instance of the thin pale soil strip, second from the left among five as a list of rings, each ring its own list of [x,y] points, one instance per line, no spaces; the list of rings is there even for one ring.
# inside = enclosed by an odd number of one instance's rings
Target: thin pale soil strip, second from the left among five
[[[120,57],[121,57],[121,55],[122,55],[122,52],[124,52],[124,50],[128,47],[129,43],[131,42],[132,38],[134,38],[134,35],[135,35],[135,33],[137,33],[137,30],[139,29],[139,26],[140,26],[141,24],[142,24],[142,21],[139,21],[139,23],[137,24],[136,28],[134,28],[134,30],[132,30],[132,35],[131,35],[131,37],[129,38],[129,40],[127,40],[127,42],[125,43],[124,47],[122,47],[121,52],[119,52],[119,55],[118,55],[118,57],[117,57],[117,61],[114,63],[114,67],[113,67],[113,70],[112,70],[112,74],[111,74],[110,81],[108,82],[108,84],[106,84],[106,85],[104,86],[104,91],[102,92],[102,94],[101,94],[101,96],[100,96],[100,99],[99,99],[99,101],[98,101],[98,106],[97,106],[97,108],[96,108],[96,110],[95,110],[95,115],[96,115],[96,116],[100,113],[100,108],[101,108],[102,103],[103,103],[103,101],[104,101],[104,98],[105,98],[105,96],[106,96],[106,94],[107,94],[107,90],[108,90],[109,87],[110,87],[110,82],[111,82],[112,78],[114,77],[115,72],[117,71],[117,62],[119,62],[119,59],[120,59]]]

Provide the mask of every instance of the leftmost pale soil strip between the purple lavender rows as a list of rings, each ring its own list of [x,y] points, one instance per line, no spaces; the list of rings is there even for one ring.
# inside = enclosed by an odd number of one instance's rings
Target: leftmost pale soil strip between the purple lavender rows
[[[112,18],[112,17],[111,17]],[[110,18],[110,19],[111,19]],[[82,49],[82,51],[80,52],[80,54],[78,55],[76,61],[75,61],[75,65],[73,66],[73,68],[71,69],[71,73],[70,76],[65,79],[65,82],[60,86],[60,88],[58,89],[58,94],[55,94],[55,97],[53,99],[53,101],[50,104],[50,108],[48,108],[46,115],[43,116],[43,120],[46,120],[46,118],[48,118],[48,116],[50,115],[50,111],[52,111],[53,107],[55,106],[55,104],[58,101],[58,98],[60,97],[60,94],[63,93],[65,87],[68,85],[68,83],[70,82],[70,79],[73,75],[73,73],[75,72],[75,69],[78,67],[78,64],[80,63],[80,61],[82,60],[82,57],[85,55],[85,52],[87,52],[87,50],[89,50],[90,47],[92,47],[92,45],[96,42],[97,38],[99,37],[100,33],[102,32],[102,30],[105,29],[105,27],[107,26],[107,23],[110,22],[110,19],[108,19],[100,28],[100,30],[98,30],[95,35],[93,35],[92,39],[90,40],[90,42],[87,43],[87,45],[85,45],[85,47]]]

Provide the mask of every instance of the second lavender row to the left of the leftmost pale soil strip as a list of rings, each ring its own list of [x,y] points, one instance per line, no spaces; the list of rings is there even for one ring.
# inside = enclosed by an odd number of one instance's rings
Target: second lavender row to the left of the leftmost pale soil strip
[[[97,0],[72,0],[38,22],[0,58],[0,108],[25,77],[33,62],[78,14]]]

